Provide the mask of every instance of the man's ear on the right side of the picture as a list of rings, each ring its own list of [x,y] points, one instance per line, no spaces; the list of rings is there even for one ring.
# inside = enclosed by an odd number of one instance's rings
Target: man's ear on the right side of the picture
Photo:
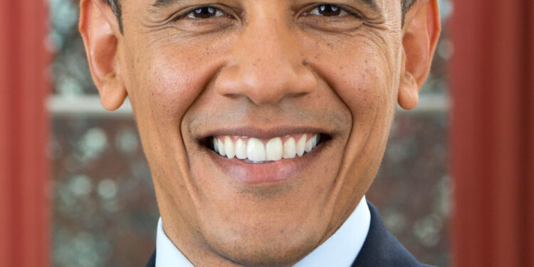
[[[402,72],[399,105],[411,110],[419,101],[419,89],[429,75],[441,31],[438,0],[417,0],[407,12],[402,28]]]

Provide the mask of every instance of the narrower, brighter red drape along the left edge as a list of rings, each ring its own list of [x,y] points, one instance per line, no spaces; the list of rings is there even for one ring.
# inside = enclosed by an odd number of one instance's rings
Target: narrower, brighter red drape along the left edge
[[[49,265],[47,3],[0,1],[0,266]]]

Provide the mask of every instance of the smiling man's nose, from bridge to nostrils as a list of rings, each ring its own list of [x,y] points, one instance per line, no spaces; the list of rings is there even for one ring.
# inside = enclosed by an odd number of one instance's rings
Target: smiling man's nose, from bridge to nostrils
[[[276,104],[308,95],[317,85],[297,38],[288,26],[273,19],[250,21],[229,58],[215,80],[217,92],[226,97]]]

